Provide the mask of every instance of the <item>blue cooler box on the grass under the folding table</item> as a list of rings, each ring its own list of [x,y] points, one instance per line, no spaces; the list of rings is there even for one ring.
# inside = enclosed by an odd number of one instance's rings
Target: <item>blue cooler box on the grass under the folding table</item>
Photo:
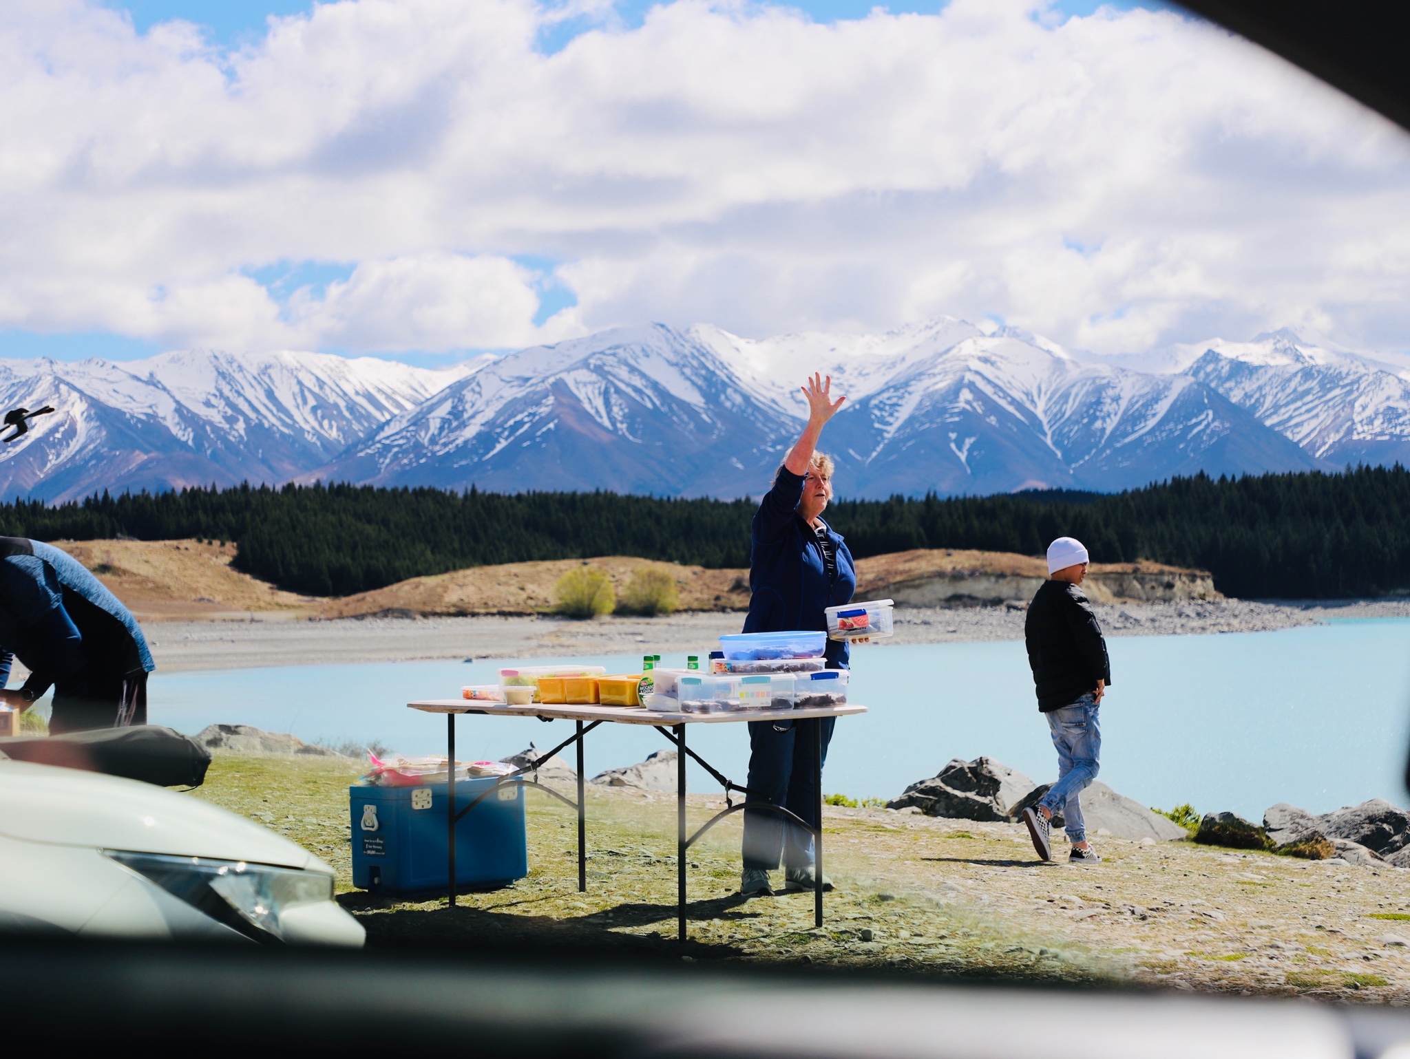
[[[455,809],[494,788],[455,781]],[[352,886],[382,894],[446,891],[446,784],[351,787]],[[455,825],[455,886],[486,887],[529,874],[525,791],[499,788]]]

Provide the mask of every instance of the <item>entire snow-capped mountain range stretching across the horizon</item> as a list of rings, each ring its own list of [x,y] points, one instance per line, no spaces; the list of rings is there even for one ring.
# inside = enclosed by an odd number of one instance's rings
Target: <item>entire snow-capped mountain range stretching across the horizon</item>
[[[1410,463],[1410,364],[1283,330],[1072,353],[945,317],[881,336],[740,338],[651,324],[446,369],[313,353],[0,361],[0,495],[348,481],[757,495],[807,412],[846,496],[1112,492],[1177,474]]]

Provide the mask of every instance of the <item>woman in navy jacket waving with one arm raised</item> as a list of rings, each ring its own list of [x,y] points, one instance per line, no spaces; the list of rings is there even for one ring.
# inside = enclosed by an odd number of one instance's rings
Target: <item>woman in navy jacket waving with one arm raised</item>
[[[814,375],[808,398],[808,426],[774,477],[752,527],[746,633],[826,629],[823,608],[850,602],[857,587],[852,553],[822,520],[832,499],[832,460],[816,451],[822,427],[846,398],[832,400],[832,377]],[[845,640],[828,640],[828,668],[847,667]],[[812,826],[818,815],[814,787],[814,728],[822,725],[822,756],[828,757],[835,718],[754,721],[749,725],[750,798],[781,805]],[[812,836],[774,812],[744,812],[744,873],[740,893],[771,895],[768,873],[784,862],[788,890],[814,888]],[[832,888],[823,880],[825,888]]]

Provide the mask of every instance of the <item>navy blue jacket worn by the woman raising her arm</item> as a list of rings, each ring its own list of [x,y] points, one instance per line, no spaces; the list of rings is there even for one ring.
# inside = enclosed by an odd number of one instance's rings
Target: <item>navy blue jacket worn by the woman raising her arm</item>
[[[838,577],[829,585],[822,546],[812,529],[798,515],[804,478],[787,467],[770,489],[750,530],[749,616],[746,633],[774,633],[791,629],[826,629],[826,606],[852,602],[857,589],[857,570],[842,534],[828,526],[828,536],[838,547]],[[826,523],[823,523],[826,526]],[[847,668],[847,642],[828,640],[830,668]]]

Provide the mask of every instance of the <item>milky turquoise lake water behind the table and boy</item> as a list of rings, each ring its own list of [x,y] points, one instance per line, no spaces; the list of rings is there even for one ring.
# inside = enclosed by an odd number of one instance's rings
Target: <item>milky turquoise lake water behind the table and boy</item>
[[[1114,685],[1101,711],[1101,780],[1122,794],[1165,808],[1190,801],[1201,812],[1234,809],[1251,819],[1279,801],[1313,812],[1372,797],[1406,804],[1410,619],[1112,637],[1108,649]],[[629,673],[640,656],[572,661]],[[406,709],[405,702],[453,698],[462,684],[495,682],[506,664],[158,671],[149,715],[152,723],[190,733],[214,722],[247,723],[307,740],[376,739],[403,753],[444,753],[444,718]],[[664,664],[684,659],[667,657]],[[871,712],[838,722],[823,777],[829,792],[895,797],[952,757],[979,754],[1039,783],[1055,778],[1021,642],[859,647],[852,699]],[[457,721],[457,756],[499,759],[530,740],[546,750],[571,733],[567,721],[464,716]],[[694,725],[689,740],[726,776],[744,781],[743,725]],[[605,725],[587,747],[591,776],[639,761],[666,742],[650,728]],[[689,784],[718,790],[694,763]]]

